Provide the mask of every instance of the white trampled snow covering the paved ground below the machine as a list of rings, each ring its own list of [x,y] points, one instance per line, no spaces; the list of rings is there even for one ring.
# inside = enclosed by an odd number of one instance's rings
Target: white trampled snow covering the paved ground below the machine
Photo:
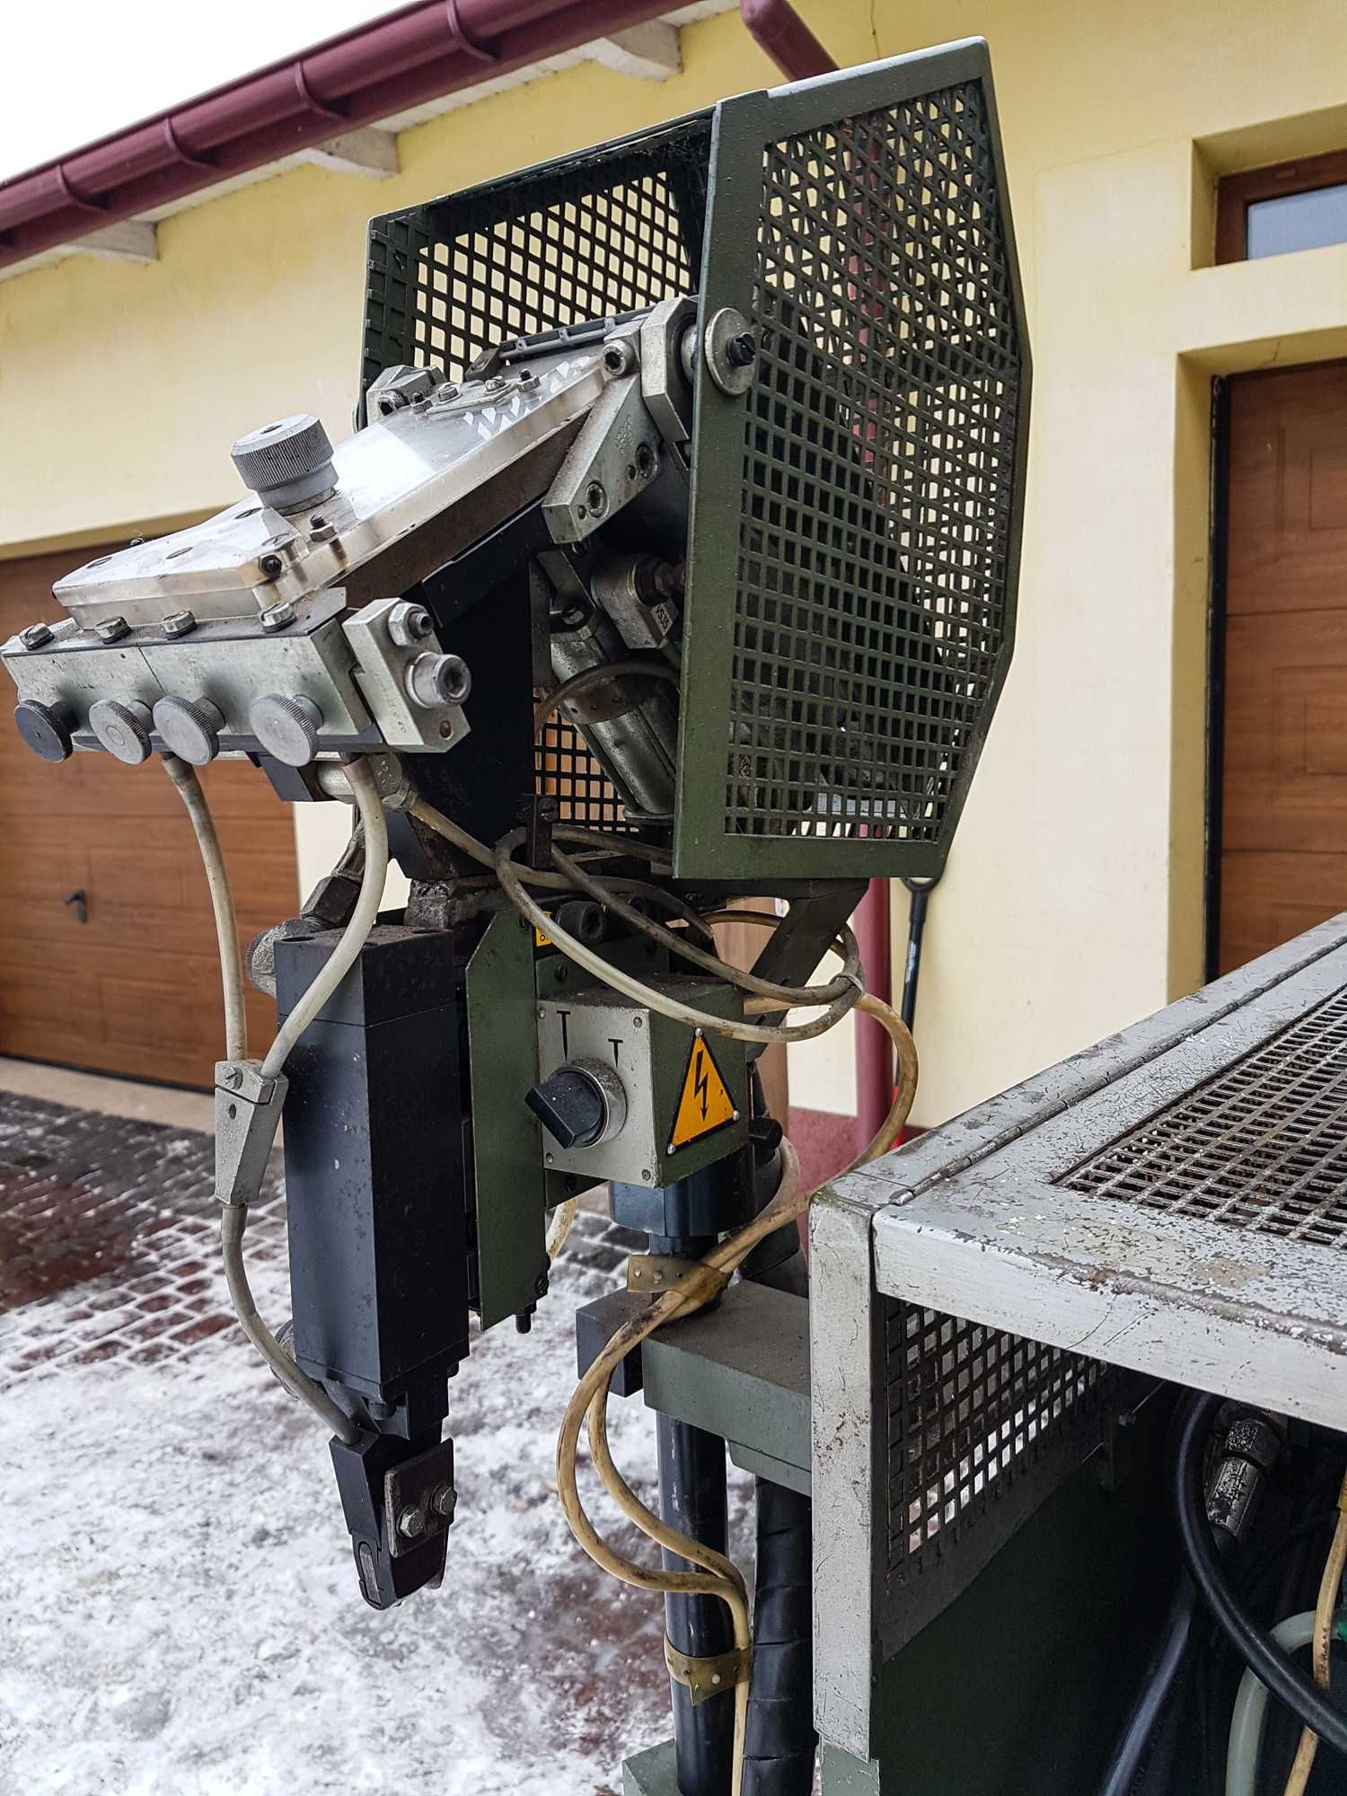
[[[284,1264],[255,1263],[278,1320]],[[621,1756],[670,1731],[663,1618],[580,1554],[551,1483],[571,1316],[603,1282],[564,1259],[532,1334],[474,1342],[451,1385],[444,1588],[384,1615],[357,1595],[321,1428],[237,1331],[158,1363],[66,1354],[9,1381],[0,1792],[618,1791]],[[0,1315],[0,1361],[36,1322],[47,1340],[63,1315],[88,1329],[86,1291]],[[614,1401],[612,1442],[652,1500],[639,1399]]]

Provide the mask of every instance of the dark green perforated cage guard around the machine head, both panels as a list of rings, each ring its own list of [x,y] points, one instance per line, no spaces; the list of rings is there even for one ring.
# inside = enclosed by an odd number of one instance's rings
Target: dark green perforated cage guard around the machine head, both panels
[[[674,869],[941,871],[1015,636],[1029,345],[986,45],[744,93],[375,217],[363,388],[697,295]],[[481,679],[485,670],[476,670]],[[553,724],[568,803],[630,828]]]

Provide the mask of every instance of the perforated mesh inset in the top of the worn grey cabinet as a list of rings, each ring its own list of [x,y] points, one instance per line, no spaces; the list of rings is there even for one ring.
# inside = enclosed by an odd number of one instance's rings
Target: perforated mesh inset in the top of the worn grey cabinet
[[[1347,1248],[1347,991],[1054,1182]]]

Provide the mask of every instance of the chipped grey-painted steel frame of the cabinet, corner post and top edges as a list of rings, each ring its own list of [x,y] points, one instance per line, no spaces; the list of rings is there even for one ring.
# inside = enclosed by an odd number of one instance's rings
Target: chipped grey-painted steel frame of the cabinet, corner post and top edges
[[[1099,1358],[1144,1365],[1153,1376],[1184,1383],[1209,1379],[1212,1390],[1236,1383],[1254,1401],[1273,1401],[1299,1413],[1324,1413],[1325,1378],[1347,1352],[1347,1293],[1331,1281],[1315,1284],[1316,1324],[1331,1340],[1316,1349],[1295,1340],[1295,1331],[1264,1333],[1266,1318],[1250,1315],[1250,1304],[1268,1295],[1266,1282],[1279,1264],[1295,1263],[1295,1290],[1304,1277],[1299,1255],[1268,1236],[1248,1236],[1219,1223],[1196,1225],[1184,1264],[1171,1270],[1193,1281],[1191,1320],[1173,1352],[1139,1354],[1142,1315],[1155,1336],[1155,1270],[1146,1248],[1175,1221],[1151,1211],[1112,1200],[1063,1193],[1042,1178],[1011,1185],[1009,1155],[1034,1131],[1052,1135],[1058,1171],[1074,1166],[1088,1146],[1117,1135],[1135,1117],[1160,1108],[1176,1090],[1191,1088],[1211,1069],[1228,1063],[1259,1038],[1307,1009],[1327,990],[1347,982],[1347,916],[1320,925],[1252,966],[1171,1004],[1121,1034],[1061,1061],[1022,1085],[1002,1092],[941,1130],[918,1137],[907,1148],[826,1187],[810,1214],[810,1352],[812,1352],[812,1487],[814,1487],[814,1656],[815,1722],[830,1746],[871,1756],[878,1672],[891,1658],[896,1615],[887,1588],[887,1390],[882,1352],[882,1304],[907,1297],[991,1327],[1026,1333],[1054,1345],[1088,1347]],[[1241,1017],[1241,1013],[1245,1013]],[[1279,1020],[1277,1020],[1279,1018]],[[1126,1085],[1126,1099],[1112,1099]],[[1090,1110],[1094,1106],[1094,1110]],[[1094,1117],[1078,1122],[1076,1117]],[[1072,1158],[1074,1155],[1074,1158]],[[1002,1158],[995,1158],[1002,1157]],[[1006,1189],[997,1221],[986,1225],[977,1209],[954,1211],[950,1196],[959,1180],[972,1185],[981,1171],[1002,1171]],[[995,1187],[991,1187],[995,1189]],[[979,1205],[988,1198],[979,1196]],[[991,1200],[995,1203],[995,1200]],[[1051,1205],[1051,1219],[1036,1221]],[[1099,1214],[1103,1212],[1103,1214]],[[1121,1212],[1121,1214],[1119,1214]],[[1097,1216],[1092,1225],[1090,1216]],[[1011,1225],[1008,1218],[1015,1216]],[[997,1223],[1013,1228],[1013,1239],[997,1234]],[[977,1236],[972,1245],[955,1236]],[[1065,1234],[1078,1246],[1094,1250],[1097,1272],[1101,1232],[1124,1236],[1130,1272],[1090,1293],[1085,1270],[1072,1273],[1061,1259]],[[1259,1259],[1268,1272],[1236,1293],[1221,1288],[1219,1259]],[[1250,1254],[1255,1243],[1257,1252]],[[1272,1254],[1272,1248],[1282,1248]],[[1081,1254],[1081,1266],[1087,1254]],[[982,1259],[995,1259],[988,1277]],[[1122,1255],[1119,1255],[1121,1263]],[[1209,1261],[1203,1268],[1202,1261]],[[1002,1279],[1004,1272],[1004,1279]],[[1263,1279],[1263,1284],[1257,1281]],[[1058,1295],[1063,1281],[1070,1282]],[[1281,1297],[1288,1290],[1279,1284]],[[1180,1293],[1182,1295],[1182,1293]],[[1117,1338],[1110,1338],[1108,1316]],[[1031,1320],[1029,1320],[1031,1318]],[[1203,1347],[1203,1331],[1212,1343]],[[1272,1365],[1318,1365],[1311,1390],[1290,1390],[1284,1376],[1232,1378],[1219,1361],[1234,1354],[1236,1365],[1252,1347],[1275,1354]],[[1340,1374],[1338,1374],[1340,1378]],[[1340,1394],[1338,1394],[1340,1395]],[[1342,1417],[1338,1417],[1338,1426]],[[1058,1467],[1065,1476],[1065,1467]],[[945,1600],[952,1600],[1004,1541],[1051,1496],[1051,1476],[1022,1485],[997,1518],[984,1518],[961,1550],[948,1555],[941,1572]],[[832,1568],[832,1572],[830,1572]],[[911,1629],[909,1629],[911,1633]]]

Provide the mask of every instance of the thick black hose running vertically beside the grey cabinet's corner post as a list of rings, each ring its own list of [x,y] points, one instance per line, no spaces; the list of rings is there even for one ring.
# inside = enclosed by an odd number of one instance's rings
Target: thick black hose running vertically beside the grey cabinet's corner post
[[[810,1796],[814,1789],[814,1505],[756,1480],[758,1572],[744,1796]]]

